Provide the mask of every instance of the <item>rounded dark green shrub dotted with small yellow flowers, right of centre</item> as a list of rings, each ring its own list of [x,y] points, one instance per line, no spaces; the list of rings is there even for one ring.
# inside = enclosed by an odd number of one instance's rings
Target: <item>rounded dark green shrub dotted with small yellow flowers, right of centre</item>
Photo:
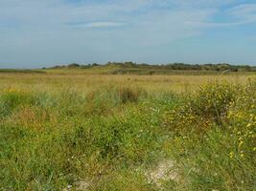
[[[221,125],[227,119],[230,104],[235,101],[239,87],[226,83],[208,83],[201,86],[194,96],[184,102],[166,117],[169,128],[197,130],[204,133],[213,122]]]

